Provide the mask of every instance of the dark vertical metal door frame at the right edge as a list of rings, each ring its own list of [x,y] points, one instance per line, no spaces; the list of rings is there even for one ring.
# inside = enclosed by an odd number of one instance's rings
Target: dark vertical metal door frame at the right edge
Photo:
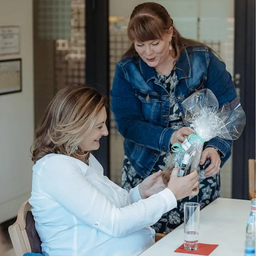
[[[234,74],[240,74],[240,100],[246,126],[234,141],[232,198],[248,199],[248,159],[255,159],[255,0],[235,0]]]

